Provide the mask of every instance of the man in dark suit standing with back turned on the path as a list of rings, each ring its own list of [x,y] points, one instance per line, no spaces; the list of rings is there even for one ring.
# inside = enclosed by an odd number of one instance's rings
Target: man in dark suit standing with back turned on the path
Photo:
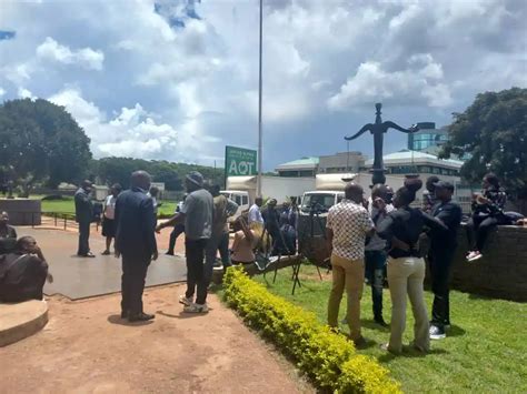
[[[131,175],[131,189],[116,202],[116,256],[122,255],[121,317],[130,322],[155,317],[142,310],[142,292],[150,261],[157,260],[153,203],[147,193],[150,175],[137,171]]]

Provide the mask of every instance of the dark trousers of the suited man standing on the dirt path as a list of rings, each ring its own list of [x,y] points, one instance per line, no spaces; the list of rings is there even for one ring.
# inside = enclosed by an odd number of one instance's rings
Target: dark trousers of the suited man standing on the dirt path
[[[142,292],[149,264],[150,257],[122,255],[121,311],[129,315],[143,312]]]

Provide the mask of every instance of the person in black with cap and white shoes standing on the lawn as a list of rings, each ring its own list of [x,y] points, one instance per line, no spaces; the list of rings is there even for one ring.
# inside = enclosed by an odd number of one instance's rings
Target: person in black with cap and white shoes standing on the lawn
[[[457,247],[457,231],[461,223],[461,208],[451,201],[454,185],[450,182],[439,181],[434,185],[439,202],[432,208],[431,214],[448,228],[448,231],[431,230],[430,251],[428,253],[431,290],[434,292],[430,339],[440,340],[446,336],[445,327],[450,325],[448,276]]]

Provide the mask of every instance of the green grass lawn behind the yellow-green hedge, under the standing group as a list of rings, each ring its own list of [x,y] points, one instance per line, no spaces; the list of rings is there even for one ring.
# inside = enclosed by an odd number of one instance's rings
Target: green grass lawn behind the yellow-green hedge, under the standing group
[[[291,295],[291,270],[278,273],[275,284],[272,274],[255,277],[268,290],[288,301],[315,312],[326,323],[330,274],[322,271],[324,281],[312,265],[302,265],[302,286]],[[341,319],[346,309],[346,296],[340,307]],[[427,304],[432,295],[426,293]],[[389,291],[385,291],[384,316],[390,320]],[[431,352],[426,356],[405,350],[394,356],[379,348],[389,337],[389,330],[374,323],[371,292],[365,286],[361,302],[362,334],[371,340],[371,346],[359,351],[371,355],[387,366],[408,393],[527,393],[527,304],[501,300],[488,300],[467,293],[450,293],[453,327],[447,339],[432,341]],[[414,319],[408,305],[405,343],[412,337]],[[349,332],[347,325],[341,329]]]

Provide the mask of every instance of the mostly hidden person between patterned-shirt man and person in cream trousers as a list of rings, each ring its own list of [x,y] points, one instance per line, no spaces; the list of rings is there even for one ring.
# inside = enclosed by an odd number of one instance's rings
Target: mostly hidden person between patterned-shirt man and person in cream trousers
[[[391,199],[394,191],[385,184],[376,184],[371,189],[371,202],[368,204],[368,213],[375,225],[380,223],[389,212],[394,211]],[[374,320],[377,324],[387,327],[382,319],[382,287],[386,267],[386,241],[374,234],[365,247],[366,279],[371,286],[371,302],[374,304]]]

